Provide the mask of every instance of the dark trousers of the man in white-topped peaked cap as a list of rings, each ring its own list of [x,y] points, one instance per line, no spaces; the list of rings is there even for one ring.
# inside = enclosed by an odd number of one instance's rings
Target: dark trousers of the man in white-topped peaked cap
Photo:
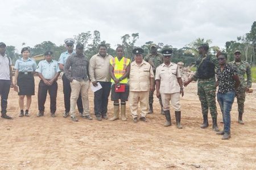
[[[71,86],[70,82],[65,74],[62,76],[63,80],[63,93],[64,93],[64,104],[65,104],[65,112],[70,111],[70,96],[71,96]],[[79,94],[79,98],[77,99],[77,108],[79,109],[79,113],[84,112],[84,108],[82,107],[82,97]]]

